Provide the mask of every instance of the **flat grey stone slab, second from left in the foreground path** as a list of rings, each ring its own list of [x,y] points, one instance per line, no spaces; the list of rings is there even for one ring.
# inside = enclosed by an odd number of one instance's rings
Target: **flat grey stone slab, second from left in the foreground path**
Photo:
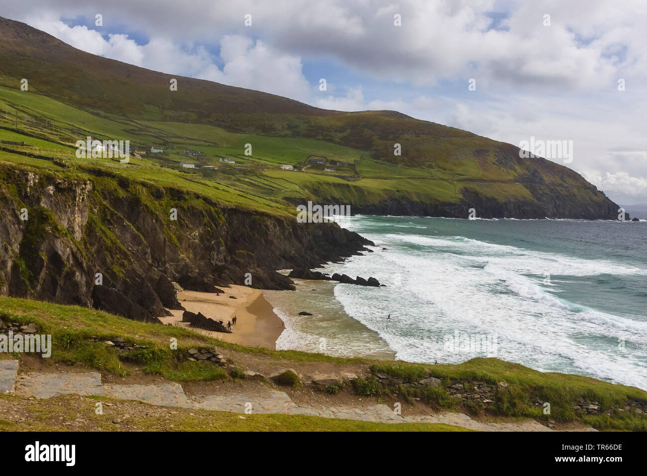
[[[101,374],[97,372],[83,374],[30,373],[19,376],[16,382],[17,395],[52,398],[69,393],[83,396],[104,396]]]

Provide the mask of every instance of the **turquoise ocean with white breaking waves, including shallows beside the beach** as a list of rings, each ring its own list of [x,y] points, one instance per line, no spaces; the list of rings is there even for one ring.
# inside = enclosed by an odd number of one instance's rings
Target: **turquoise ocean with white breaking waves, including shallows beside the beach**
[[[422,363],[498,357],[647,390],[646,222],[340,225],[377,246],[320,270],[386,286],[296,280],[296,292],[268,291],[286,326],[277,348]]]

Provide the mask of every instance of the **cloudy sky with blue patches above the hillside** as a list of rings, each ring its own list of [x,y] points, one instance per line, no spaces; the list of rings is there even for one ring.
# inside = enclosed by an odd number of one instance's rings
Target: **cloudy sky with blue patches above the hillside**
[[[647,1],[78,4],[0,0],[0,16],[106,58],[320,108],[392,109],[517,146],[572,141],[572,157],[552,160],[621,205],[647,203]]]

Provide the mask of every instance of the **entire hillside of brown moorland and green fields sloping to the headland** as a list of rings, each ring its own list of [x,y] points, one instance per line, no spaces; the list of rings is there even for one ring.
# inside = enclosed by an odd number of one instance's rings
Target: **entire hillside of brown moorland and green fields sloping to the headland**
[[[22,78],[28,91],[20,89]],[[171,78],[178,80],[177,91],[170,90]],[[131,153],[151,146],[164,152],[148,152],[127,166],[76,159],[74,144],[88,135],[128,140]],[[394,111],[327,111],[157,73],[1,18],[0,141],[27,144],[5,144],[0,158],[6,161],[17,160],[12,153],[31,153],[77,170],[110,167],[158,183],[196,183],[214,187],[212,194],[224,201],[233,194],[236,205],[258,202],[282,213],[313,199],[377,214],[461,218],[471,207],[484,218],[617,214],[617,205],[573,170],[521,159],[510,144]],[[186,149],[201,154],[186,155]],[[197,167],[182,169],[181,162]],[[296,171],[281,170],[281,164]]]

